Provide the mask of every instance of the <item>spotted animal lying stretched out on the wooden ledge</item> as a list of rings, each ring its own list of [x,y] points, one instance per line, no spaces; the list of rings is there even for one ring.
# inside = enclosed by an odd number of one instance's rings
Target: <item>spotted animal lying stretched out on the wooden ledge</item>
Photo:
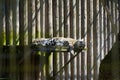
[[[56,49],[67,49],[67,51],[81,52],[84,50],[85,42],[73,38],[53,37],[40,38],[32,42],[31,48],[40,51],[56,51]],[[46,50],[47,49],[47,50]],[[48,50],[49,49],[49,50]]]

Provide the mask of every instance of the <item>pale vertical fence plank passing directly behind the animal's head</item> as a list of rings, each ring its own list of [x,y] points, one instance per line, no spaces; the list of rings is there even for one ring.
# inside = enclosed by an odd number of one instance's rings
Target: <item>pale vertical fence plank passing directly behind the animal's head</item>
[[[76,1],[76,38],[81,38],[81,0]],[[81,80],[81,53],[77,56],[77,80]]]

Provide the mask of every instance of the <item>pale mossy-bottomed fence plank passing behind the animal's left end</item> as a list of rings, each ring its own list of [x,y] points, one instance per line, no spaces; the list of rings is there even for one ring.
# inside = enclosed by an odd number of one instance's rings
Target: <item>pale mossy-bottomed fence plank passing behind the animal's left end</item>
[[[41,29],[40,29],[40,25],[41,25],[41,21],[40,21],[40,12],[41,12],[41,5],[40,5],[40,0],[35,0],[35,38],[40,38],[41,37]],[[35,79],[41,79],[41,69],[42,66],[40,63],[41,61],[41,52],[36,52],[35,54]],[[41,62],[40,62],[41,61]]]

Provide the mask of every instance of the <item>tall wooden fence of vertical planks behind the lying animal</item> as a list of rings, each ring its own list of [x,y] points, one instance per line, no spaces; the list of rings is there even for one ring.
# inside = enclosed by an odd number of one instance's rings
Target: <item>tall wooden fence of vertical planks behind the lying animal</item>
[[[33,39],[71,37],[84,39],[87,50],[57,75],[72,55],[51,53],[49,75],[97,80],[99,64],[119,32],[119,6],[119,0],[0,0],[0,79],[45,80],[45,54],[33,54]]]

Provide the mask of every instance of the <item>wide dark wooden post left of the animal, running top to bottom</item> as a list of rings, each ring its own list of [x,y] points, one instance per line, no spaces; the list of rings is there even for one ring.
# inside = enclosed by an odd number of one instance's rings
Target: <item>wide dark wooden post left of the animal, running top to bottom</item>
[[[19,1],[19,45],[22,46],[23,50],[21,51],[21,55],[24,57],[27,55],[26,53],[26,48],[24,47],[25,44],[27,44],[27,1],[26,0],[20,0]],[[28,59],[28,58],[27,58]],[[27,60],[24,59],[23,64],[20,66],[20,79],[26,80],[28,79],[27,77]]]

